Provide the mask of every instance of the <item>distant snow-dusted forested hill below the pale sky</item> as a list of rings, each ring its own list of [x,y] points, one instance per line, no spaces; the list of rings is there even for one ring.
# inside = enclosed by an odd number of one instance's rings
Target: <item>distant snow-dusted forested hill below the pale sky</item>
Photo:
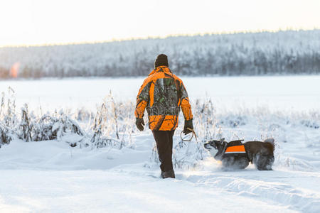
[[[178,75],[319,74],[320,30],[0,48],[0,78],[16,62],[26,78],[144,76],[159,53]]]

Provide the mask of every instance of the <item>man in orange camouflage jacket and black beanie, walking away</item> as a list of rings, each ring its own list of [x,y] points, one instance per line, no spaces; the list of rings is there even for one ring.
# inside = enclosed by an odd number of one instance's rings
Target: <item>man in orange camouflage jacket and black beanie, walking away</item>
[[[158,55],[154,70],[144,80],[137,95],[134,111],[139,131],[144,130],[144,109],[149,115],[149,129],[154,134],[156,148],[161,162],[161,177],[175,178],[172,165],[172,142],[178,126],[180,107],[185,118],[183,133],[193,129],[192,112],[188,93],[183,82],[169,69],[166,55]]]

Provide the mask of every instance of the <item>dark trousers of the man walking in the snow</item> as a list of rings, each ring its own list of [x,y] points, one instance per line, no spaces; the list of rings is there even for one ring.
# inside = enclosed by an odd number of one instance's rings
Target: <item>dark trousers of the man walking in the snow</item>
[[[158,149],[159,160],[161,162],[161,170],[164,172],[172,170],[172,143],[174,137],[174,130],[152,131],[152,133],[154,134],[156,148]]]

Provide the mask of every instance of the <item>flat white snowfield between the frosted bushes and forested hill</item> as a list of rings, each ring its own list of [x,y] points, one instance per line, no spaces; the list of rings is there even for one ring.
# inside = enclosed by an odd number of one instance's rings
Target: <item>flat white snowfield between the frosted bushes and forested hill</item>
[[[220,109],[268,107],[271,110],[309,110],[320,107],[320,76],[270,77],[181,77],[191,102],[210,97]],[[0,84],[16,91],[16,103],[43,110],[55,108],[95,108],[110,90],[115,99],[135,102],[142,77],[11,80]],[[72,86],[70,86],[72,85]]]

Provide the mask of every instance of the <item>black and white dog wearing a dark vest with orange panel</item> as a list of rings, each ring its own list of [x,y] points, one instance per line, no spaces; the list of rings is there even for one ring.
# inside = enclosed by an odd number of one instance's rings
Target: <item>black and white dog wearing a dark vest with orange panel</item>
[[[249,163],[255,165],[258,170],[272,170],[274,163],[274,139],[265,141],[230,141],[222,138],[220,141],[208,141],[204,143],[206,150],[222,162],[225,169],[244,169]]]

